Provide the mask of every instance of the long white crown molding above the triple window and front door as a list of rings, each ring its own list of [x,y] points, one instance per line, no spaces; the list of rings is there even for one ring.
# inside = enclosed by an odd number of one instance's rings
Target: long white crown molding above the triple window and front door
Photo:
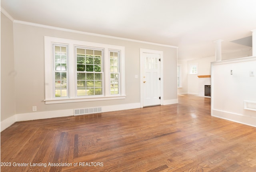
[[[166,44],[158,44],[158,43],[154,43],[154,42],[146,42],[146,41],[141,41],[141,40],[134,40],[134,39],[129,39],[129,38],[121,38],[121,37],[109,36],[109,35],[103,35],[103,34],[95,34],[95,33],[90,33],[90,32],[82,32],[82,31],[78,31],[78,30],[59,28],[59,27],[55,27],[55,26],[48,26],[48,25],[37,24],[37,23],[32,23],[32,22],[24,22],[24,21],[21,21],[21,20],[14,20],[13,22],[14,23],[18,23],[18,24],[26,24],[26,25],[30,25],[30,26],[41,27],[41,28],[60,30],[60,31],[64,31],[64,32],[72,32],[72,33],[84,34],[84,35],[90,35],[90,36],[99,36],[99,37],[103,37],[103,38],[112,38],[112,39],[125,40],[125,41],[130,41],[130,42],[138,42],[138,43],[143,43],[143,44],[151,44],[151,45],[156,45],[156,46],[178,48],[178,46],[171,46],[171,45],[166,45]]]

